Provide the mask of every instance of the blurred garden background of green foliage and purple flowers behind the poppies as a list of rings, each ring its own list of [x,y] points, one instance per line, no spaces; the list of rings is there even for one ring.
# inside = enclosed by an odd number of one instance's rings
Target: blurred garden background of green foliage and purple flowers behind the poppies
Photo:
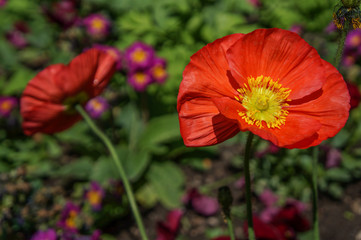
[[[150,239],[228,235],[216,201],[223,185],[233,193],[236,235],[245,239],[241,166],[246,134],[213,147],[186,148],[176,110],[182,72],[207,43],[272,27],[296,32],[332,62],[337,4],[0,0],[0,239],[140,239],[108,151],[85,122],[54,135],[29,137],[21,129],[19,101],[27,83],[48,65],[67,64],[92,47],[113,54],[117,72],[86,110],[116,146]],[[336,137],[320,145],[323,239],[361,239],[360,43],[361,30],[352,30],[340,67],[352,98],[350,118]],[[136,47],[152,56],[142,70],[130,67]],[[292,232],[266,239],[310,239],[310,151],[286,151],[257,139],[254,152],[254,212],[276,229],[274,218],[283,219]]]

